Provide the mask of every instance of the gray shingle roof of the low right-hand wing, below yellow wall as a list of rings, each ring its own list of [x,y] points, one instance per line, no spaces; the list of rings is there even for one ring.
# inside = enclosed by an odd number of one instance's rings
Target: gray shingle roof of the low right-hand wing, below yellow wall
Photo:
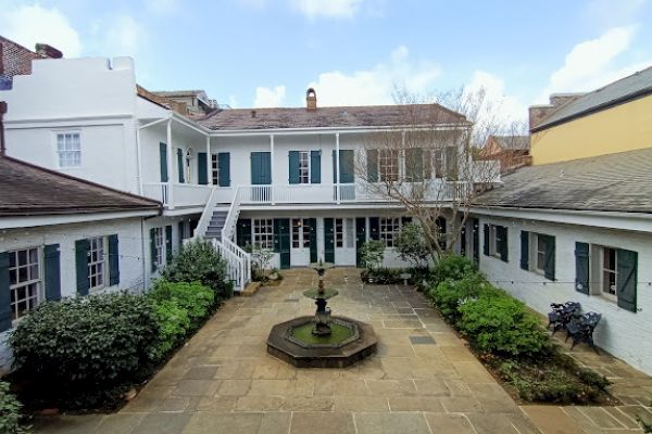
[[[477,205],[652,213],[652,148],[524,167]]]

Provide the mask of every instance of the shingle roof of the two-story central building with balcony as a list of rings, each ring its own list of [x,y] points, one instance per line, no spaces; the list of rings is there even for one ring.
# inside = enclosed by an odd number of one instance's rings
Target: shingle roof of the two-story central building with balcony
[[[253,114],[255,112],[255,114]],[[231,108],[209,114],[198,123],[213,130],[277,128],[396,127],[422,123],[457,124],[466,117],[439,104],[368,105],[292,108]]]

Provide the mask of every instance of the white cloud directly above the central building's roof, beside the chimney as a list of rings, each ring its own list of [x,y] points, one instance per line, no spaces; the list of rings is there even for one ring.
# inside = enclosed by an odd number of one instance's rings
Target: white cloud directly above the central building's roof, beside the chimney
[[[438,64],[412,60],[408,48],[401,46],[386,62],[371,69],[351,74],[340,71],[322,73],[308,87],[316,90],[321,106],[391,104],[397,86],[411,93],[425,94],[440,73]]]

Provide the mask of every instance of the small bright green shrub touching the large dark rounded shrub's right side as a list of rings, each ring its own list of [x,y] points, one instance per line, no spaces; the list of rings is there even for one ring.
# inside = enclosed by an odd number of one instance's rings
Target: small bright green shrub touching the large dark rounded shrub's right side
[[[165,358],[186,336],[190,330],[190,318],[188,310],[172,299],[155,302],[154,315],[159,324],[155,357],[160,360]]]

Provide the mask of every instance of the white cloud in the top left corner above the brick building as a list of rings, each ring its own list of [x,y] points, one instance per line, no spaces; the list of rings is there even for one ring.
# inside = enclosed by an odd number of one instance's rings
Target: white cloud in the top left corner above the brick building
[[[0,9],[2,36],[29,49],[37,42],[48,43],[63,52],[66,58],[82,54],[79,34],[67,17],[57,8],[46,9],[39,4],[15,9]]]

